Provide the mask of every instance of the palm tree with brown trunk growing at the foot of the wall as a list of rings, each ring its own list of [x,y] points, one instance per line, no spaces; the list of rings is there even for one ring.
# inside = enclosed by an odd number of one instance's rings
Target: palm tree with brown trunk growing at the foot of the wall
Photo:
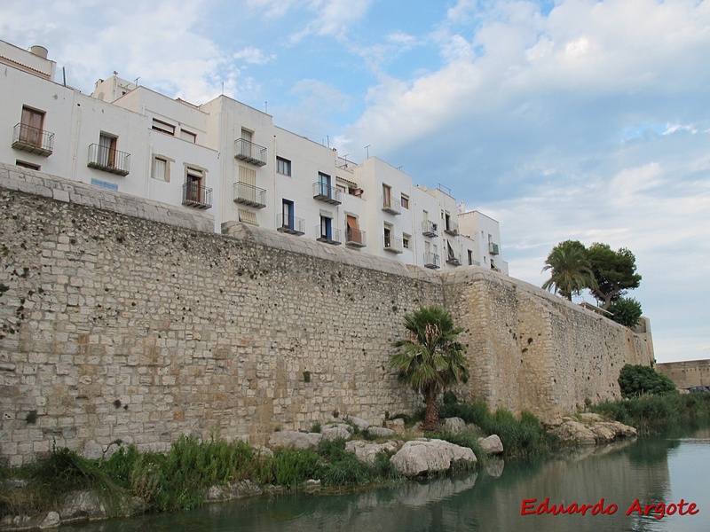
[[[398,352],[391,356],[390,365],[398,371],[399,382],[423,395],[426,410],[422,427],[434,431],[438,428],[438,395],[469,379],[464,349],[456,340],[463,329],[454,325],[448,311],[436,305],[406,314],[404,325],[408,338],[394,342]]]

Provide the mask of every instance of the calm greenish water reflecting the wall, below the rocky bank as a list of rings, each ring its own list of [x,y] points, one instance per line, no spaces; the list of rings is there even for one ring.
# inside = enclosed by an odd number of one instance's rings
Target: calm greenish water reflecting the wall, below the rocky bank
[[[537,505],[595,505],[611,514],[521,515]],[[641,515],[629,508],[678,505],[698,513]],[[612,505],[612,506],[610,506]],[[670,506],[670,509],[673,509]],[[349,531],[669,531],[710,530],[710,429],[644,439],[564,457],[493,464],[489,471],[409,482],[338,496],[279,496],[206,505],[193,512],[66,525],[60,532],[312,532]]]

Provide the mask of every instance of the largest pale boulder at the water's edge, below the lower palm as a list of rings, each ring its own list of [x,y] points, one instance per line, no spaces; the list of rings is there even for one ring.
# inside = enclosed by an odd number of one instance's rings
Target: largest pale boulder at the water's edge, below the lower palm
[[[418,439],[406,442],[391,458],[392,464],[406,476],[448,471],[458,461],[476,463],[476,455],[468,447],[443,440]]]

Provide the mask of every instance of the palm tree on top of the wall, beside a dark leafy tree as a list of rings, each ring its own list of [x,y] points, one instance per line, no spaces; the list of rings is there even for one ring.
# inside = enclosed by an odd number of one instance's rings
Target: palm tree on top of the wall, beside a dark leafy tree
[[[594,286],[594,272],[587,258],[587,248],[579,240],[564,240],[548,254],[542,271],[551,270],[542,288],[559,292],[572,301],[572,295]]]

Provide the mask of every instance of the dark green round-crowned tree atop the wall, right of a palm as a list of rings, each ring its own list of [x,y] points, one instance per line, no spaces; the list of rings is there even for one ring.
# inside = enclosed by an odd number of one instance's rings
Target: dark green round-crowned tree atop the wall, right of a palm
[[[636,273],[636,257],[626,247],[614,251],[608,244],[595,243],[588,247],[596,286],[588,286],[602,309],[609,309],[611,301],[618,299],[631,288],[638,288],[641,276]]]

